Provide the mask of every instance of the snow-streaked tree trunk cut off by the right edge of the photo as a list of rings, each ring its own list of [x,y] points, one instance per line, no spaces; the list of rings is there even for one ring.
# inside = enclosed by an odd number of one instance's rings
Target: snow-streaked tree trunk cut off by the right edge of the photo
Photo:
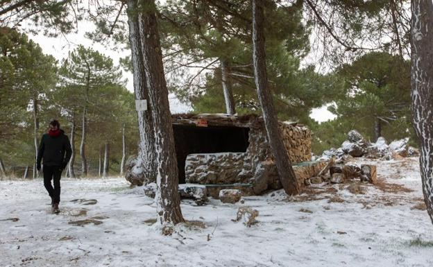
[[[420,144],[421,180],[433,223],[433,3],[411,1],[412,120]]]

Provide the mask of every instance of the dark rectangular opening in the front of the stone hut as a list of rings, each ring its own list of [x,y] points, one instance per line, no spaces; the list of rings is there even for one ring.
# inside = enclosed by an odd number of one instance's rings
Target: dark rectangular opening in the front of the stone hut
[[[185,160],[196,153],[246,152],[250,128],[234,126],[196,127],[173,124],[179,183],[185,184]]]

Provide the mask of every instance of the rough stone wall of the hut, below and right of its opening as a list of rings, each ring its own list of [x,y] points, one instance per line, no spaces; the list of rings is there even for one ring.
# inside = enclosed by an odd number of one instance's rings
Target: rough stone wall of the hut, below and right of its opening
[[[311,160],[311,132],[305,126],[280,123],[283,142],[292,163]],[[263,122],[255,123],[249,132],[246,153],[192,154],[185,164],[186,182],[198,184],[255,184],[255,193],[281,188]],[[295,167],[298,180],[305,173],[312,176],[317,166]],[[302,170],[302,171],[301,171]],[[300,175],[303,173],[303,175]],[[302,184],[302,182],[300,182]]]

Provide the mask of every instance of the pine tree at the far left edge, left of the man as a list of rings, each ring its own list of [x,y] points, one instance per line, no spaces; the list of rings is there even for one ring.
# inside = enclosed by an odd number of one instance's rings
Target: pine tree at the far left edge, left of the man
[[[3,105],[0,103],[1,110],[5,113],[2,118],[9,120],[12,125],[31,121],[33,151],[35,151],[33,158],[35,159],[40,136],[40,112],[42,112],[42,106],[51,93],[50,89],[54,87],[57,81],[56,60],[51,55],[44,55],[40,46],[28,40],[26,35],[17,33],[10,28],[1,29],[0,39],[2,46],[0,83],[2,85],[1,91],[4,90],[4,94],[1,92],[1,96],[6,96],[5,100],[8,100]],[[5,109],[9,103],[18,104],[20,108],[11,114],[10,110]],[[26,111],[28,105],[31,106],[31,114]],[[19,117],[15,117],[15,112],[28,114],[28,119],[23,118],[24,121],[19,121]],[[3,125],[6,126],[6,124]],[[36,178],[35,160],[33,160],[32,165],[33,178]]]

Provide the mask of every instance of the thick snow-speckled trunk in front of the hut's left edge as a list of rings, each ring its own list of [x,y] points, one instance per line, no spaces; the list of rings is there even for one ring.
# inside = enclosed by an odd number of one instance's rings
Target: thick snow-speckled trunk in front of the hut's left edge
[[[139,14],[144,71],[155,127],[155,148],[158,162],[157,214],[161,224],[184,222],[178,193],[178,166],[174,148],[173,126],[169,109],[169,92],[164,77],[160,35],[154,0],[140,1]]]

